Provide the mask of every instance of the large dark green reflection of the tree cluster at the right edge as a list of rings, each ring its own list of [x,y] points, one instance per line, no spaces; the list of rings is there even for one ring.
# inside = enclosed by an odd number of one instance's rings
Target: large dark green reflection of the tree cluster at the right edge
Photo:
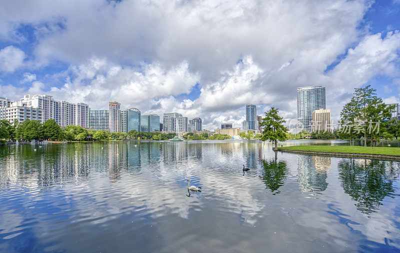
[[[398,162],[350,158],[339,161],[338,169],[344,192],[363,213],[376,212],[384,197],[398,195],[393,185],[400,171]]]

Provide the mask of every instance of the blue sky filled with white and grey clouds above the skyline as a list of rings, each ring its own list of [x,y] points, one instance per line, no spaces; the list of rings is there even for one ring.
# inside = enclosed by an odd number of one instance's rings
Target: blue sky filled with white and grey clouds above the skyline
[[[240,126],[244,105],[296,118],[295,88],[325,85],[337,119],[353,88],[399,102],[400,1],[5,1],[0,96],[108,100]]]

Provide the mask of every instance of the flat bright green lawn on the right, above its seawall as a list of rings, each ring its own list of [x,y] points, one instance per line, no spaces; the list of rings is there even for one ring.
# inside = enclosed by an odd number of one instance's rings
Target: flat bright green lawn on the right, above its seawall
[[[303,150],[303,151],[400,155],[400,147],[300,145],[300,146],[284,146],[281,148],[286,148],[291,150]]]

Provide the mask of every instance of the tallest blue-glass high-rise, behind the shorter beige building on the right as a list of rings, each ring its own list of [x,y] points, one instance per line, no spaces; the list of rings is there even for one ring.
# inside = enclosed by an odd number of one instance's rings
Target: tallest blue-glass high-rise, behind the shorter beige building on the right
[[[297,120],[304,130],[312,130],[312,112],[326,109],[325,87],[308,86],[297,88]]]

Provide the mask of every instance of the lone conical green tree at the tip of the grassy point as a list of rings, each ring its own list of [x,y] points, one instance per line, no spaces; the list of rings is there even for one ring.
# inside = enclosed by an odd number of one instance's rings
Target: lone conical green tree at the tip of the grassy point
[[[279,109],[271,107],[265,112],[265,117],[260,123],[262,127],[261,140],[269,140],[275,142],[275,150],[277,149],[277,141],[285,141],[287,139],[286,132],[288,129],[283,125],[286,122],[283,117],[279,116]]]

